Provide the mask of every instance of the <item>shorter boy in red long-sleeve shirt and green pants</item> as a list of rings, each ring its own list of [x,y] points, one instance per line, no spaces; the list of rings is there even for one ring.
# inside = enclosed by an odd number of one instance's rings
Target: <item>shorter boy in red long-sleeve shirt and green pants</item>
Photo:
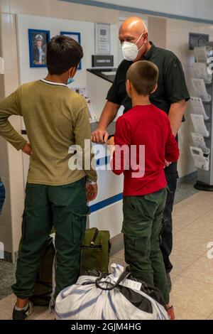
[[[150,102],[158,68],[146,60],[127,72],[126,90],[133,108],[119,117],[112,169],[124,173],[125,259],[131,274],[162,291],[169,303],[168,281],[160,252],[167,196],[165,164],[178,161],[178,144],[168,115]]]

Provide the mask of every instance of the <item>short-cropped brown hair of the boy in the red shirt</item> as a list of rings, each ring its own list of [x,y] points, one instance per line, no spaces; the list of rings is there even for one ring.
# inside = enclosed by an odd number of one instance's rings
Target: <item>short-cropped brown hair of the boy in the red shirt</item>
[[[158,76],[158,67],[147,60],[133,63],[126,74],[127,80],[132,83],[136,92],[143,96],[151,95],[158,84]]]

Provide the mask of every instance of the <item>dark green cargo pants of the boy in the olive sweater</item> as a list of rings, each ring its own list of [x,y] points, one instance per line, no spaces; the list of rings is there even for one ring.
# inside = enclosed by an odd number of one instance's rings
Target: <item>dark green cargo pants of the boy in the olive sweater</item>
[[[18,254],[13,293],[25,299],[33,296],[35,277],[54,225],[57,252],[58,293],[75,284],[80,273],[80,245],[86,229],[87,198],[85,178],[68,185],[26,185],[22,223],[22,247]]]

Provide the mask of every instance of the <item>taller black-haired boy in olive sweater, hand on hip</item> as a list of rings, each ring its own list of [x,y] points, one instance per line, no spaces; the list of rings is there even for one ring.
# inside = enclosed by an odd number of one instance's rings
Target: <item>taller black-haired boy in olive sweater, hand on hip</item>
[[[45,242],[55,226],[57,271],[55,298],[62,289],[75,284],[80,271],[80,244],[89,212],[87,202],[97,196],[97,173],[91,167],[72,170],[70,146],[82,148],[90,140],[87,104],[72,92],[72,82],[82,47],[72,38],[56,36],[48,43],[48,76],[23,85],[0,102],[0,136],[17,150],[31,156],[23,212],[22,247],[18,254],[17,296],[13,319],[22,320],[32,312],[35,276]],[[29,143],[9,122],[20,115],[26,124]],[[88,152],[86,153],[88,157]],[[92,153],[89,152],[90,162]]]

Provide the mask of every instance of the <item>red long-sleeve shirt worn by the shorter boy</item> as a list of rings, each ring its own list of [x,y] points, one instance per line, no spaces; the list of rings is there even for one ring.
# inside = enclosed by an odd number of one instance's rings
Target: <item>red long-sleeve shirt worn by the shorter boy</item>
[[[117,120],[114,143],[111,165],[117,175],[124,173],[124,196],[148,195],[165,188],[165,160],[179,158],[165,112],[153,104],[133,107]]]

